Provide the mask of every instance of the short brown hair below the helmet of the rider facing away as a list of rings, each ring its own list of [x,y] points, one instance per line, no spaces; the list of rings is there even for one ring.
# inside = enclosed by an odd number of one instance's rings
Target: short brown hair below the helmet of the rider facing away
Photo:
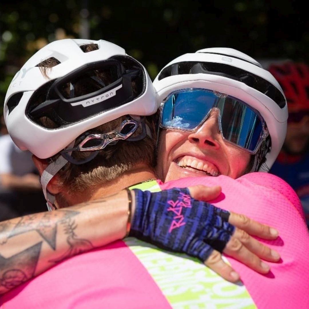
[[[107,133],[117,128],[126,117],[120,117],[90,131],[93,133]],[[108,145],[100,150],[98,155],[87,163],[76,165],[67,163],[58,173],[58,185],[66,187],[67,193],[81,191],[91,186],[104,184],[117,179],[123,173],[131,170],[137,164],[144,164],[155,169],[155,117],[146,117],[146,125],[150,128],[152,137],[148,135],[139,141],[119,140],[115,145]],[[139,127],[132,136],[141,133]],[[85,158],[90,152],[73,152],[74,159]],[[57,158],[51,158],[55,160]]]

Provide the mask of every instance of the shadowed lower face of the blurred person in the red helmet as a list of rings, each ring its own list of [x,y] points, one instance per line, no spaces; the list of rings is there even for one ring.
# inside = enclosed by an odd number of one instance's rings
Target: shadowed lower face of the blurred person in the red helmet
[[[290,154],[302,154],[309,144],[309,116],[299,122],[289,122],[287,126],[284,149]]]

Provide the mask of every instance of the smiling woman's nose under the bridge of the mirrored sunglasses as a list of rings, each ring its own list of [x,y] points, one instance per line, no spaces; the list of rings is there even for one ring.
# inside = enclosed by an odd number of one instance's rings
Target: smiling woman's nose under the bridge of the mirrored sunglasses
[[[213,147],[218,149],[220,147],[219,140],[222,139],[218,124],[218,113],[217,110],[212,110],[203,124],[188,135],[188,140],[197,144],[200,148]]]

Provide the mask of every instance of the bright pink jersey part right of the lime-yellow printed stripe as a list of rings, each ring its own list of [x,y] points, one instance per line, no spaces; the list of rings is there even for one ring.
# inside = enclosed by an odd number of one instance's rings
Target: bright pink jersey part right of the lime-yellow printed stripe
[[[257,307],[309,308],[309,233],[299,200],[290,186],[268,173],[252,173],[237,180],[227,176],[183,178],[160,185],[163,190],[195,184],[221,185],[222,193],[211,203],[279,231],[276,240],[261,240],[281,256],[278,263],[267,262],[271,266],[267,275],[227,257]]]

